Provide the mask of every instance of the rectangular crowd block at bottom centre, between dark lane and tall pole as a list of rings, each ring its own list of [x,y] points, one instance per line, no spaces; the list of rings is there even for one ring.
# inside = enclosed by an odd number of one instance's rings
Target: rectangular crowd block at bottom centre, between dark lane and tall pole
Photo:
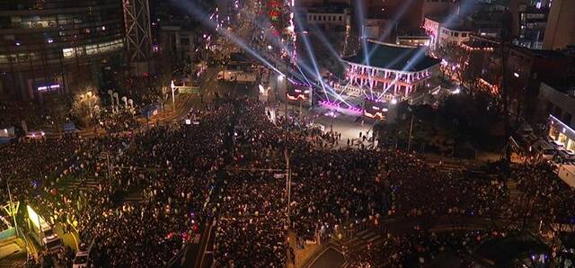
[[[284,267],[283,182],[266,173],[240,172],[226,180],[217,225],[217,267]]]

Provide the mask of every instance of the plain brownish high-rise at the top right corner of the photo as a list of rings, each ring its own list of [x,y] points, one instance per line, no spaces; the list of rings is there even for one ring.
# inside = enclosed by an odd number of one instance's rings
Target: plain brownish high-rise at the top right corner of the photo
[[[565,49],[575,45],[575,1],[553,0],[545,28],[544,49]]]

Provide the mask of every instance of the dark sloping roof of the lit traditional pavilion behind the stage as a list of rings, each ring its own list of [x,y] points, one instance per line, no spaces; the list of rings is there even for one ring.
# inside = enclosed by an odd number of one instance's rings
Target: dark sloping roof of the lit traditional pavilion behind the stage
[[[373,51],[367,61],[364,51],[343,60],[360,65],[380,67],[407,72],[417,72],[439,64],[438,58],[426,55],[425,48],[411,48],[388,43],[367,41],[367,51]]]

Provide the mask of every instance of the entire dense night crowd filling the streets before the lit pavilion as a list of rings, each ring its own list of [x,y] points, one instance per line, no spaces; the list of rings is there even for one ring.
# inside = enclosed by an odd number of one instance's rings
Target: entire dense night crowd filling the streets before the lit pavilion
[[[336,132],[297,117],[272,117],[266,109],[247,99],[227,100],[190,110],[190,124],[6,145],[0,179],[8,180],[13,201],[93,243],[92,264],[111,267],[165,266],[213,217],[215,264],[280,267],[294,261],[288,231],[301,246],[395,219],[507,217],[516,211],[555,222],[571,220],[575,210],[571,188],[557,180],[553,165],[512,167],[522,196],[511,201],[500,177],[447,174],[402,151],[345,147]],[[87,183],[93,186],[81,186]],[[7,189],[0,193],[7,202]],[[409,266],[447,247],[468,254],[490,234],[386,233],[384,243],[356,261]],[[42,252],[39,265],[68,266],[70,255],[69,248]]]

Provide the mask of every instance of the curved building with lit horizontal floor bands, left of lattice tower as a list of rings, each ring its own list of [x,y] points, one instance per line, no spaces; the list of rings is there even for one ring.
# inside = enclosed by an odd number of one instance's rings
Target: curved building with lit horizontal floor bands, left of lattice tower
[[[121,0],[0,2],[0,95],[42,100],[99,85],[124,49]]]

